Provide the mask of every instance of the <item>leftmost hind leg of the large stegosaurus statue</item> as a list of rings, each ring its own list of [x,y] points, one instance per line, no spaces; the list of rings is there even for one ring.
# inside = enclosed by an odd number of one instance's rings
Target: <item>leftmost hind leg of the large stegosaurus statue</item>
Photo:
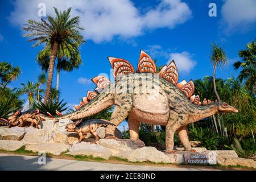
[[[122,107],[119,105],[115,106],[115,109],[112,113],[110,122],[114,123],[113,125],[108,125],[105,130],[105,138],[107,139],[117,139],[114,137],[115,129],[116,127],[128,116],[129,112],[131,110],[131,105],[123,105]]]

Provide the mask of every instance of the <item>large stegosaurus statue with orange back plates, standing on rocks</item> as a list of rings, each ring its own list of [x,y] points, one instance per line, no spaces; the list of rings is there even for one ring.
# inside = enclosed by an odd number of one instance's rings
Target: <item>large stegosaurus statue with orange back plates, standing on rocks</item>
[[[165,65],[156,75],[156,65],[146,52],[141,51],[138,71],[135,74],[129,61],[108,57],[113,68],[114,82],[104,76],[92,78],[97,85],[95,92],[89,91],[87,96],[76,105],[76,111],[60,117],[46,119],[82,119],[97,114],[115,105],[110,122],[106,126],[106,138],[115,138],[115,128],[127,117],[129,118],[130,139],[138,140],[139,123],[166,126],[166,152],[173,152],[174,134],[180,137],[185,150],[191,150],[187,126],[216,113],[237,113],[238,110],[225,102],[212,102],[193,95],[193,81],[183,80],[178,83],[179,74],[174,60]],[[131,84],[131,85],[130,85]],[[150,85],[150,86],[149,86]],[[147,88],[147,92],[141,92]],[[139,91],[139,92],[138,92]]]

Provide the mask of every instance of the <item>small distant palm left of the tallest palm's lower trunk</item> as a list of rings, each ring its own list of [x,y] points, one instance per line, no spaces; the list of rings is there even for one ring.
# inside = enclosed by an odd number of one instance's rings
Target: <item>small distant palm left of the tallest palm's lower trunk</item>
[[[39,84],[35,83],[35,85],[34,85],[33,82],[27,81],[27,85],[25,85],[23,83],[20,85],[22,85],[22,88],[19,89],[19,93],[27,94],[28,108],[31,108],[31,106],[32,106],[31,104],[34,101],[34,96],[35,96],[35,93],[38,91]]]

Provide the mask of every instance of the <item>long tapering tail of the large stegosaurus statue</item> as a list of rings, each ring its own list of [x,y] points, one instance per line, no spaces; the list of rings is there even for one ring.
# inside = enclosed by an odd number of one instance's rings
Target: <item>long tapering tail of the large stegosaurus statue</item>
[[[51,118],[46,117],[45,115],[40,115],[44,120],[59,120],[59,119],[81,119],[89,117],[93,114],[97,114],[100,111],[107,109],[108,107],[114,105],[114,94],[110,93],[110,88],[104,93],[98,94],[93,98],[88,104],[82,106],[79,110],[74,111],[73,113],[65,114],[61,117]]]

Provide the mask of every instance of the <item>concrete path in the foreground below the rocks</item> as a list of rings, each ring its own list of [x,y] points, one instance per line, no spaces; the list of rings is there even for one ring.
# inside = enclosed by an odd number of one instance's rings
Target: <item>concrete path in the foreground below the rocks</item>
[[[4,170],[83,170],[83,171],[195,171],[216,170],[209,167],[153,167],[100,162],[83,162],[77,160],[47,158],[46,164],[38,163],[39,156],[0,154],[0,171]]]

